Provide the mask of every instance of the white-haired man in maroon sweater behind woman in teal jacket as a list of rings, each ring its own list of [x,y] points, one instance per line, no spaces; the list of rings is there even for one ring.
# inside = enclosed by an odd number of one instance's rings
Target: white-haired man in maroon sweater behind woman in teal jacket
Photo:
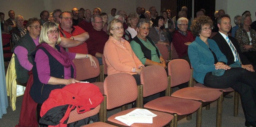
[[[190,45],[194,40],[191,31],[188,31],[188,19],[179,18],[177,20],[178,30],[174,32],[172,44],[176,49],[179,59],[185,59],[190,63],[188,59],[188,45]]]

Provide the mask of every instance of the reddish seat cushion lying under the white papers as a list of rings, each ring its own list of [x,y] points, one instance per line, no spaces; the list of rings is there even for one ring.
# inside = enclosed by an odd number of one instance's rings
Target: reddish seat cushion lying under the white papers
[[[117,123],[119,125],[124,125],[127,126],[126,124],[114,119],[117,116],[120,115],[126,115],[127,113],[130,113],[131,111],[133,111],[134,109],[138,109],[138,108],[132,108],[132,109],[127,109],[124,111],[121,111],[119,113],[116,113],[112,116],[110,116],[108,118],[108,121],[113,122],[113,123]],[[153,123],[149,124],[149,123],[134,123],[132,124],[130,127],[164,127],[164,125],[166,125],[167,123],[169,123],[172,119],[173,119],[173,115],[168,114],[168,113],[163,113],[163,112],[159,112],[159,111],[152,111],[150,110],[152,113],[156,114],[156,117],[153,117]]]

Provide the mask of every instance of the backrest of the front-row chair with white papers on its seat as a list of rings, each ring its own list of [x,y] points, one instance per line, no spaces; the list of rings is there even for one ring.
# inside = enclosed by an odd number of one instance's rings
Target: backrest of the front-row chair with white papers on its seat
[[[104,80],[104,95],[106,95],[107,109],[133,102],[138,97],[135,78],[128,73],[117,73]]]

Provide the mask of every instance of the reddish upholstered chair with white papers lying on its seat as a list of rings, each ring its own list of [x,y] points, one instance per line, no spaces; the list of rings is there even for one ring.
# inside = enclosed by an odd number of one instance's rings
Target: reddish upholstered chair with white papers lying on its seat
[[[126,124],[114,119],[117,116],[125,115],[134,109],[139,107],[127,109],[110,116],[107,119],[107,109],[113,109],[123,106],[125,104],[134,102],[138,97],[138,87],[134,77],[127,73],[112,74],[106,77],[104,80],[104,101],[103,101],[103,113],[104,121],[118,126],[127,126]],[[156,114],[153,117],[153,123],[134,123],[130,127],[164,127],[169,125],[173,119],[173,115],[158,111],[152,111]]]

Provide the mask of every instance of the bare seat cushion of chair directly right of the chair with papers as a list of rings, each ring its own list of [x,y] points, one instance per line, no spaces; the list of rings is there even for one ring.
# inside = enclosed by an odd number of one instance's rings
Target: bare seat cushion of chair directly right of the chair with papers
[[[144,105],[145,108],[168,113],[186,115],[193,113],[201,106],[201,102],[182,98],[165,96],[152,100]]]

